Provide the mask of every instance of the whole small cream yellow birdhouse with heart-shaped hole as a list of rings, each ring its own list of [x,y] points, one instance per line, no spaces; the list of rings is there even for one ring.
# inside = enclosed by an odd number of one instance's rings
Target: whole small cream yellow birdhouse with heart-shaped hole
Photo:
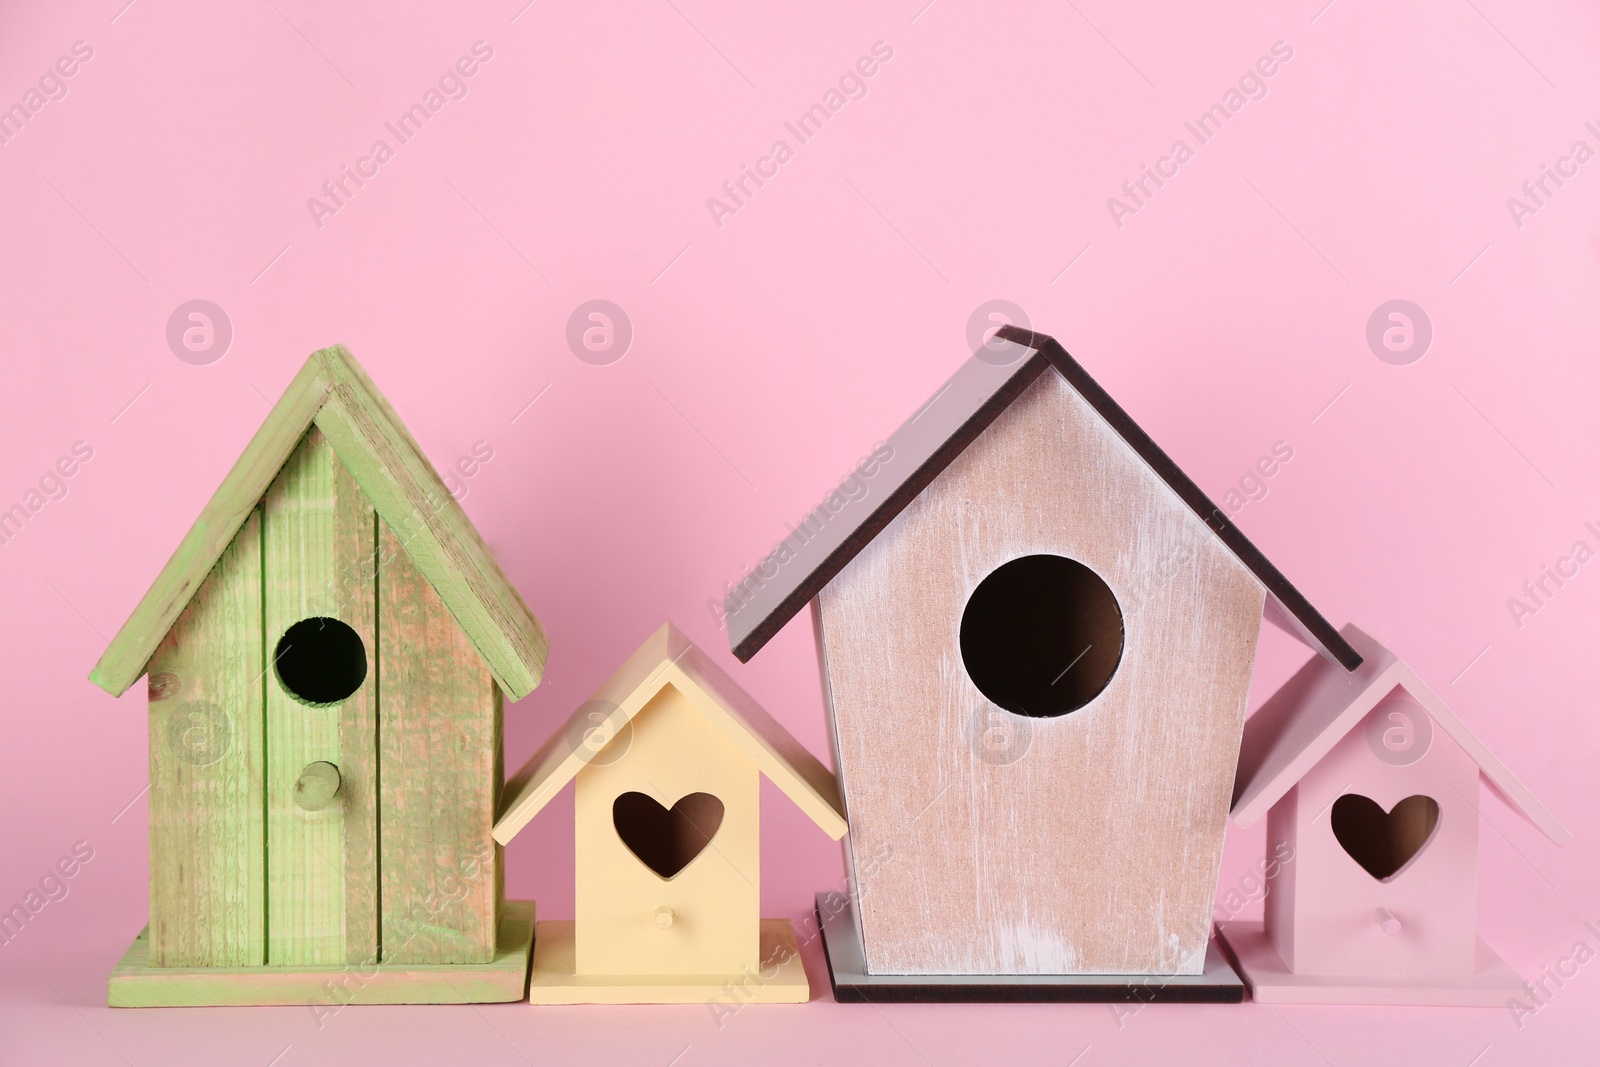
[[[536,1005],[810,998],[789,920],[760,915],[760,777],[845,835],[838,782],[670,622],[506,787],[509,843],[576,781],[573,921],[541,921]]]

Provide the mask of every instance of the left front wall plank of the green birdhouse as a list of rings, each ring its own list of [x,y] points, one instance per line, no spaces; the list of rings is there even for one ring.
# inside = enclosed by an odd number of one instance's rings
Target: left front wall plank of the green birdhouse
[[[261,514],[150,656],[150,966],[266,960]]]

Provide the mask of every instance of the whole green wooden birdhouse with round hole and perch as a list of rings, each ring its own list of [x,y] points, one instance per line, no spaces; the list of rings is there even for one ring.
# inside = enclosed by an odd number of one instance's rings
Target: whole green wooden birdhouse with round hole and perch
[[[491,827],[547,641],[341,347],[296,374],[90,678],[149,678],[150,925],[110,1003],[522,997]]]

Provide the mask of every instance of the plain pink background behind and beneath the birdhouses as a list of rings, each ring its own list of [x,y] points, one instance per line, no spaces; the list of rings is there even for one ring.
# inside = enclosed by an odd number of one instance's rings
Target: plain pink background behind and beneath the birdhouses
[[[146,726],[142,689],[118,702],[85,677],[310,350],[349,346],[435,466],[494,450],[464,506],[554,637],[546,683],[507,709],[509,765],[666,617],[826,752],[805,622],[738,665],[707,601],[968,355],[994,298],[1218,499],[1293,446],[1238,522],[1574,830],[1557,849],[1485,803],[1485,936],[1523,974],[1600,949],[1582,925],[1600,920],[1600,563],[1520,627],[1507,608],[1574,541],[1600,547],[1600,162],[1520,227],[1506,205],[1576,139],[1600,149],[1592,5],[523,2],[0,5],[0,106],[93,48],[0,144],[0,509],[74,442],[94,453],[0,545],[0,905],[94,849],[0,947],[0,1061],[1592,1056],[1597,961],[1520,1025],[1498,1008],[838,1006],[814,945],[811,1005],[722,1027],[704,1006],[350,1008],[320,1029],[304,1008],[101,1006],[146,912]],[[467,96],[318,229],[307,197],[374,139],[395,147],[384,122],[477,40],[494,51]],[[867,96],[797,146],[784,122],[878,40],[893,59]],[[1107,197],[1174,139],[1195,147],[1184,122],[1278,40],[1293,59],[1267,96],[1118,227]],[[718,227],[707,197],[779,138],[795,157]],[[197,298],[234,328],[205,366],[165,339]],[[635,328],[608,366],[565,341],[594,298]],[[1365,339],[1397,298],[1434,326],[1405,366]],[[1304,654],[1267,630],[1253,699]],[[765,912],[798,917],[842,885],[840,853],[763,801]],[[546,917],[573,909],[570,814],[566,797],[510,849],[512,893]],[[1261,845],[1230,835],[1222,891]]]

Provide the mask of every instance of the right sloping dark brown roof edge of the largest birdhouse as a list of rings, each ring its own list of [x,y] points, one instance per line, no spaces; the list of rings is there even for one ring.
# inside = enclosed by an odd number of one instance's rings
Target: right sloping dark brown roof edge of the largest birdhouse
[[[1067,379],[1067,384],[1078,390],[1078,395],[1117,430],[1117,435],[1128,442],[1144,462],[1150,464],[1157,477],[1171,486],[1173,493],[1189,506],[1189,510],[1211,528],[1211,533],[1227,545],[1229,552],[1250,568],[1250,573],[1267,587],[1267,593],[1283,606],[1294,622],[1304,627],[1307,637],[1320,645],[1346,670],[1355,670],[1362,665],[1362,654],[1344,640],[1344,635],[1306,600],[1301,590],[1294,589],[1293,582],[1283,576],[1283,571],[1274,566],[1272,560],[1245,536],[1245,531],[1227,520],[1227,514],[1211,502],[1211,498],[1173,462],[1171,456],[1162,451],[1162,446],[1149,434],[1139,429],[1139,424],[1122,410],[1122,405],[1112,400],[1110,394],[1101,389],[1099,382],[1090,378],[1090,373],[1067,355],[1061,342],[1046,334],[1018,326],[1003,326],[998,336],[1042,352],[1051,366]]]

